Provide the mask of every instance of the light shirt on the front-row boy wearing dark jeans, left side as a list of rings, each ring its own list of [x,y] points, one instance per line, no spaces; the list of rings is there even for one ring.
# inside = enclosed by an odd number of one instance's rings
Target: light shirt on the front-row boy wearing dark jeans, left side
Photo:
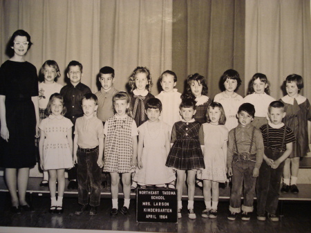
[[[98,138],[104,138],[104,126],[96,116],[77,118],[75,134],[78,135],[77,145],[83,149],[94,148],[99,145]]]

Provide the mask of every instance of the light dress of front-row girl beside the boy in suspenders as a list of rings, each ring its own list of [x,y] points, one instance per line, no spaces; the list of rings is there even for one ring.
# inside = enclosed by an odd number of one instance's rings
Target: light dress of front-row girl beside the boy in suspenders
[[[224,125],[202,124],[204,131],[205,169],[198,175],[201,180],[225,182],[226,160],[223,144],[228,140],[228,129]]]

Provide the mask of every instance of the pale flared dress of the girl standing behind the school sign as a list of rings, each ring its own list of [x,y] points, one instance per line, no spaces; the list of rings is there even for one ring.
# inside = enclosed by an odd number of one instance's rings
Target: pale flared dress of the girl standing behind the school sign
[[[165,134],[169,133],[169,125],[160,121],[157,131],[150,131],[144,122],[138,127],[138,132],[144,138],[142,149],[142,169],[136,169],[134,181],[144,185],[167,184],[175,180],[173,170],[165,166],[167,150],[165,149]],[[154,124],[154,123],[153,123]]]

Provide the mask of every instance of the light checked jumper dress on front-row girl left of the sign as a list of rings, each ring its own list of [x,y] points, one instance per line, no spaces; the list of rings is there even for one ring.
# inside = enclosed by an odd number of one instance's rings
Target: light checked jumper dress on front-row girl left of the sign
[[[105,138],[103,171],[131,172],[133,156],[132,123],[133,119],[129,116],[126,116],[126,118],[116,118],[114,115],[106,121],[108,131]]]

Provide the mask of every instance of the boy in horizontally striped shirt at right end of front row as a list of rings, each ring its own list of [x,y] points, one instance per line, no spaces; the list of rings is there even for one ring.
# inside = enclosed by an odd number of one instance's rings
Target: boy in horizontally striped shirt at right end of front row
[[[265,212],[271,221],[279,221],[276,209],[279,203],[279,187],[284,161],[292,152],[295,136],[292,129],[282,122],[286,113],[281,101],[271,102],[268,108],[270,122],[261,126],[265,153],[256,184],[257,219],[265,221]]]

